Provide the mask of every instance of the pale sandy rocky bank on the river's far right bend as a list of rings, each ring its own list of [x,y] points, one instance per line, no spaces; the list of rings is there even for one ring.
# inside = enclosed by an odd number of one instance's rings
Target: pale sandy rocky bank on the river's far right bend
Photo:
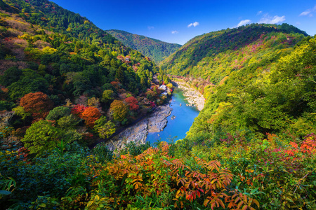
[[[183,90],[183,95],[188,103],[188,106],[196,106],[199,111],[204,108],[205,99],[201,93],[197,90],[192,89],[185,82],[173,82],[173,85]]]

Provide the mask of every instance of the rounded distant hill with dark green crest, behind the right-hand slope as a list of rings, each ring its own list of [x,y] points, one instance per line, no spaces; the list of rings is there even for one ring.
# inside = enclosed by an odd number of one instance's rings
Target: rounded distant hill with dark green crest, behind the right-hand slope
[[[265,53],[289,48],[304,36],[308,36],[305,31],[288,24],[252,24],[213,31],[192,38],[160,66],[173,75],[201,76],[218,83],[231,71],[262,59]]]

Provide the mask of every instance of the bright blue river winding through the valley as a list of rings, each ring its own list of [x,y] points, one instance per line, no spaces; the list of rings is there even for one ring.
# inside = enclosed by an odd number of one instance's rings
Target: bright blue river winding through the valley
[[[196,107],[185,106],[187,101],[184,100],[183,91],[176,88],[173,92],[173,96],[171,99],[171,115],[167,118],[168,123],[163,131],[149,133],[147,135],[146,141],[150,141],[150,143],[154,143],[157,140],[161,141],[171,141],[173,137],[174,141],[178,139],[183,139],[185,137],[185,133],[190,130],[190,127],[195,120],[195,118],[199,115],[199,111]],[[180,106],[182,104],[182,106]],[[171,120],[172,116],[176,116],[173,120]]]

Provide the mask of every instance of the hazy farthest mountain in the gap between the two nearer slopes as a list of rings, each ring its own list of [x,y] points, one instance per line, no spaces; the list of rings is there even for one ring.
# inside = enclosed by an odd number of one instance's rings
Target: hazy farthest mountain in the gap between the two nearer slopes
[[[111,34],[124,45],[142,52],[143,55],[150,57],[156,64],[162,62],[163,59],[176,52],[181,45],[175,43],[166,43],[154,38],[131,34],[126,31],[108,30]]]

